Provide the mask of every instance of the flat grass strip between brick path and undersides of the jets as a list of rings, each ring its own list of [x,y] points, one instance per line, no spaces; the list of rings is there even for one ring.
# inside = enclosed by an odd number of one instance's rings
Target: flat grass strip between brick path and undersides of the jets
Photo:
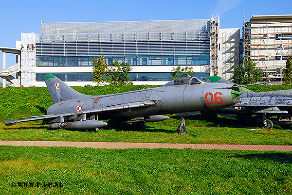
[[[130,130],[130,125],[109,120],[108,126],[97,132],[47,130],[38,122],[0,125],[0,140],[90,141],[90,142],[148,142],[187,144],[253,144],[291,145],[292,133],[275,125],[273,130],[261,130],[251,119],[237,120],[211,112],[185,117],[187,133],[176,132],[180,118],[174,114],[165,121],[147,123],[143,130]],[[256,130],[250,130],[256,129]]]

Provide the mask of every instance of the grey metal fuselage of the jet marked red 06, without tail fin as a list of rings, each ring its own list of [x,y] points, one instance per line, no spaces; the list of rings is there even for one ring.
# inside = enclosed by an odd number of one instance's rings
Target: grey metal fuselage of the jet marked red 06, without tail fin
[[[81,106],[82,111],[85,111],[101,108],[106,109],[115,105],[127,105],[132,102],[143,103],[145,101],[152,101],[155,105],[132,110],[124,109],[120,111],[103,112],[98,114],[98,119],[214,110],[231,106],[239,100],[239,96],[232,99],[231,86],[233,86],[233,84],[222,83],[172,85],[170,82],[169,85],[164,85],[162,87],[119,94],[85,97],[83,95],[80,98],[54,103],[49,107],[47,114],[75,113],[76,107],[78,106]],[[222,101],[218,99],[218,97],[220,97]],[[77,114],[75,115],[77,116]],[[70,117],[69,119],[73,118],[74,117]]]

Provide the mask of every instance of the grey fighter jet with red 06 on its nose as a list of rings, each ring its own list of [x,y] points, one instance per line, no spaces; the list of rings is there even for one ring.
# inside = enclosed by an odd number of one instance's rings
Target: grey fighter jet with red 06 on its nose
[[[46,120],[51,123],[48,126],[51,130],[92,130],[107,125],[101,120],[121,118],[137,127],[169,118],[160,114],[187,115],[231,106],[241,94],[235,84],[207,83],[196,77],[176,79],[157,88],[102,96],[80,94],[54,75],[44,76],[44,80],[54,102],[47,114],[7,120],[5,125]],[[178,133],[186,133],[183,118]]]

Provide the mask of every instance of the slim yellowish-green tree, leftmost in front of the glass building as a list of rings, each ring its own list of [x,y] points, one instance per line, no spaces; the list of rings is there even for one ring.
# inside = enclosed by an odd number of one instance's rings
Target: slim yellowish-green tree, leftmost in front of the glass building
[[[107,62],[104,62],[105,56],[101,54],[98,59],[93,57],[93,68],[92,68],[92,77],[93,82],[97,82],[97,85],[104,83],[104,77],[107,76]]]

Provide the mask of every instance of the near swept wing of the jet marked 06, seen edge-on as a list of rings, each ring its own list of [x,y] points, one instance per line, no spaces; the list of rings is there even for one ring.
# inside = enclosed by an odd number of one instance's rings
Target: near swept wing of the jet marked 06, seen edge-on
[[[155,105],[153,101],[132,102],[132,103],[109,106],[109,107],[100,108],[100,109],[80,111],[77,114],[79,115],[79,114],[90,114],[90,113],[104,113],[104,112],[112,112],[112,111],[131,109],[131,108],[150,107],[153,105]]]

